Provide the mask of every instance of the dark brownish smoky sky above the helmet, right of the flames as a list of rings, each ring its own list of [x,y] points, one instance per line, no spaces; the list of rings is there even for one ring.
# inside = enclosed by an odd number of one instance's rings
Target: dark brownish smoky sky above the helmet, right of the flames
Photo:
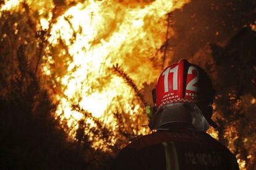
[[[207,43],[223,43],[256,21],[256,0],[192,0],[173,12],[177,37],[170,39],[174,60],[189,59]]]

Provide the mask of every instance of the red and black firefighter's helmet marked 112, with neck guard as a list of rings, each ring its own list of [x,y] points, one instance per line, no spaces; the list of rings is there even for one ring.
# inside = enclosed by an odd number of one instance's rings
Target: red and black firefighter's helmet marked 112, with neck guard
[[[150,121],[151,129],[174,122],[190,123],[203,130],[209,124],[217,126],[211,119],[215,95],[211,79],[202,68],[186,59],[161,72],[152,94],[156,113]]]

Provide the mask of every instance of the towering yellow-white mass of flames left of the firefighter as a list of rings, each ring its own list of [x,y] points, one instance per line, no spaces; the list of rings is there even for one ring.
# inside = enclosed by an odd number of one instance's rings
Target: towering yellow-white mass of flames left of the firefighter
[[[77,128],[75,124],[83,117],[70,107],[74,102],[111,128],[118,126],[111,113],[120,103],[127,114],[143,114],[140,103],[131,103],[135,95],[131,87],[109,68],[116,63],[121,65],[140,89],[142,83],[154,81],[161,70],[161,65],[153,61],[161,59],[157,51],[166,34],[166,14],[182,4],[184,2],[155,1],[142,7],[135,2],[130,5],[86,1],[70,7],[58,18],[49,42],[57,44],[58,39],[62,39],[72,59],[67,61],[66,75],[57,78],[63,95],[56,95],[59,100],[56,113],[68,119],[69,127]],[[72,39],[74,34],[76,37]],[[43,68],[48,75],[53,73],[49,64],[51,60],[47,59]],[[147,132],[145,127],[139,131],[139,134]]]

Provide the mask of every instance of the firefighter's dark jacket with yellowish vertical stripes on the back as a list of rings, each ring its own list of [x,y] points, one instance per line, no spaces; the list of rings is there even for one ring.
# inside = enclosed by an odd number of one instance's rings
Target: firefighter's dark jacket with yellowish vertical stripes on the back
[[[158,131],[121,150],[111,169],[239,169],[236,157],[209,134]]]

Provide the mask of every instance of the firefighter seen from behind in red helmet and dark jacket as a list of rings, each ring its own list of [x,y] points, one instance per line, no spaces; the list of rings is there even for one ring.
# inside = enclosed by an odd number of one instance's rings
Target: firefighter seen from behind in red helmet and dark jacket
[[[215,91],[202,68],[182,59],[165,68],[152,91],[149,127],[123,148],[111,169],[239,169],[236,157],[206,133]]]

